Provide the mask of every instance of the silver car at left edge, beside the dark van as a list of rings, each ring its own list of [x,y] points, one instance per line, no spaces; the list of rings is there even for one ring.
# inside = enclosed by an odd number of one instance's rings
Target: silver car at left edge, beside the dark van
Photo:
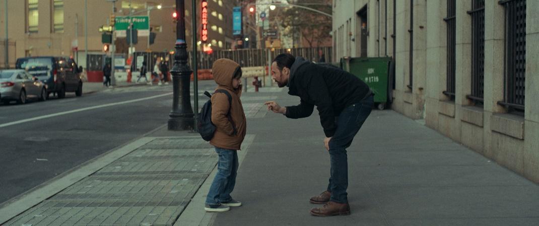
[[[25,104],[28,99],[43,101],[47,99],[47,87],[25,70],[1,70],[0,99],[5,105],[12,100],[19,104]]]

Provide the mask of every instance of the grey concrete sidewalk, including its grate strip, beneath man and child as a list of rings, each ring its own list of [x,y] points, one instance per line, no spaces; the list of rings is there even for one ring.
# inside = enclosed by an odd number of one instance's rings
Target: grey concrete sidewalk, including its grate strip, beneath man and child
[[[537,184],[393,111],[373,111],[348,149],[352,214],[310,216],[330,172],[318,115],[268,113],[266,100],[299,103],[275,87],[241,99],[248,135],[232,196],[243,206],[206,213],[217,155],[198,134],[162,127],[29,194],[37,204],[0,209],[15,216],[3,225],[539,224]]]

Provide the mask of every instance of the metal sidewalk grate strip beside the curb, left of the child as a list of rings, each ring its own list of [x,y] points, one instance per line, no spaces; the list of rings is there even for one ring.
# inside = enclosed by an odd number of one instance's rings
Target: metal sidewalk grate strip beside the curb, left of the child
[[[172,225],[217,163],[199,138],[157,138],[4,225]]]

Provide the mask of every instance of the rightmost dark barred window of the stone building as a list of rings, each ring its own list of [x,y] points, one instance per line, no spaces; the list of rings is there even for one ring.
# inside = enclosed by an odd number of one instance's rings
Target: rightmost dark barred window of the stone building
[[[500,1],[505,6],[505,100],[499,104],[524,111],[526,82],[526,0]]]

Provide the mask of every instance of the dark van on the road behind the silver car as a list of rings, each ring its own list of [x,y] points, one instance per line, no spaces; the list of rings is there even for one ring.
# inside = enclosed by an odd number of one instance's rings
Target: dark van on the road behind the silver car
[[[57,93],[64,98],[66,92],[82,95],[82,80],[77,64],[66,57],[24,57],[18,58],[17,69],[24,69],[32,76],[43,81],[47,87],[47,96]]]

